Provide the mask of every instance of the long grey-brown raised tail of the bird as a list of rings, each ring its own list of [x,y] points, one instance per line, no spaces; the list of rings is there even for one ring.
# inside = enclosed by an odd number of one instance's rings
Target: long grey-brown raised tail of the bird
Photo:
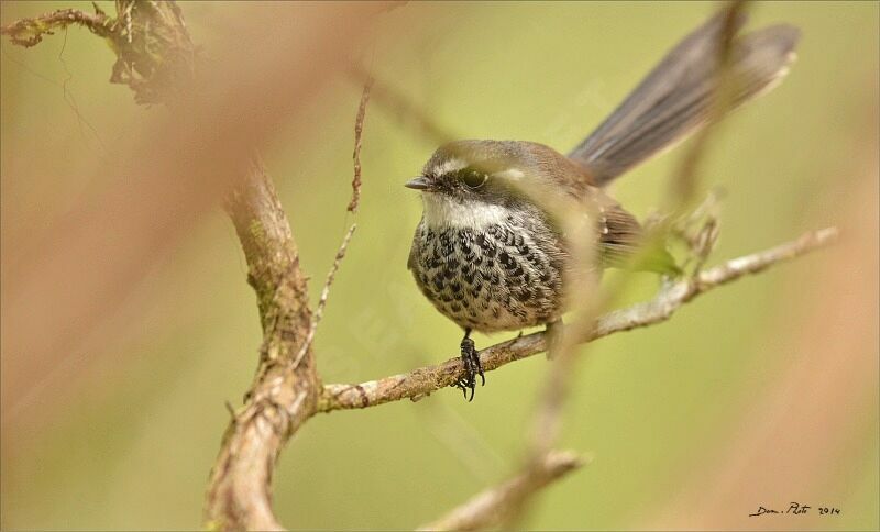
[[[569,154],[586,166],[597,185],[609,182],[706,123],[716,96],[723,30],[724,18],[714,16],[688,35]],[[799,36],[796,27],[780,24],[736,40],[729,65],[733,107],[771,89],[788,74]]]

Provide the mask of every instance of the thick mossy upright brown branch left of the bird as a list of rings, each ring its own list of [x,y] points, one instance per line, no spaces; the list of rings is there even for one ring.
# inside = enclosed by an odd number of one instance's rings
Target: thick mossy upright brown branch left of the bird
[[[234,413],[211,472],[210,528],[278,530],[271,507],[272,472],[284,444],[314,414],[320,380],[310,346],[306,277],[290,225],[262,165],[227,203],[248,261],[263,324],[260,367]]]

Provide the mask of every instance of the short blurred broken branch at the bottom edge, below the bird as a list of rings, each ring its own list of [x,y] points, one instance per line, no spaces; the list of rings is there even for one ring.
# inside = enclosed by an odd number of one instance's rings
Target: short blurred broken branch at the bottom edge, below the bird
[[[419,527],[419,530],[496,528],[517,512],[525,499],[582,465],[583,461],[571,451],[550,452],[520,475],[486,489],[437,521]]]

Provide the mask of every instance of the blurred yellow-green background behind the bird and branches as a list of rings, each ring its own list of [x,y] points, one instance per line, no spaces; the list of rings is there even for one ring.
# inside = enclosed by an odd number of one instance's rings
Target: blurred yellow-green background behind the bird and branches
[[[0,22],[62,7],[90,9],[4,2]],[[413,2],[384,15],[364,62],[463,137],[530,140],[566,151],[715,7]],[[249,9],[183,3],[194,40],[208,53],[211,43],[230,38]],[[712,145],[703,175],[707,186],[727,191],[716,262],[836,223],[848,185],[859,177],[846,165],[876,128],[867,106],[877,98],[878,3],[756,3],[750,11],[750,27],[785,21],[803,37],[785,82],[725,122]],[[383,40],[382,24],[419,30]],[[139,108],[125,87],[108,84],[112,54],[85,30],[32,49],[8,42],[1,49],[3,223],[48,223],[120,178],[70,181],[70,160],[84,153],[100,160],[128,142],[118,132],[136,136],[148,113],[163,111]],[[356,82],[340,77],[322,95],[324,106],[305,111],[314,114],[307,145],[297,141],[292,148],[292,133],[279,131],[265,151],[314,299],[348,224],[360,225],[317,336],[328,383],[440,362],[460,340],[405,267],[420,203],[402,184],[436,146],[376,102],[365,125],[361,211],[344,213],[359,98]],[[647,215],[661,204],[683,149],[620,179],[615,197]],[[51,155],[35,156],[41,153]],[[14,181],[10,162],[24,156],[44,170],[44,181]],[[818,261],[744,279],[668,323],[583,347],[562,446],[593,462],[550,487],[528,524],[639,527],[686,486],[711,486],[706,464],[748,426],[752,399],[796,364],[796,347],[782,342],[778,328],[820,304],[798,299],[821,282]],[[245,273],[231,223],[217,209],[138,285],[107,330],[134,326],[107,342],[105,329],[95,331],[88,346],[66,353],[56,372],[4,403],[4,529],[199,527],[229,417],[223,404],[240,403],[261,342]],[[656,288],[654,277],[640,276],[627,300],[649,298]],[[477,346],[503,337],[477,335]],[[876,343],[865,348],[877,356]],[[506,478],[524,455],[546,369],[536,356],[493,372],[470,404],[450,389],[417,403],[312,419],[275,476],[280,521],[294,529],[411,528]],[[832,477],[822,492],[824,503],[844,511],[821,528],[880,527],[876,380],[869,396],[857,410],[840,412],[853,421],[853,443],[844,461],[824,465]],[[782,495],[798,497],[799,489]],[[773,501],[752,502],[732,511]]]

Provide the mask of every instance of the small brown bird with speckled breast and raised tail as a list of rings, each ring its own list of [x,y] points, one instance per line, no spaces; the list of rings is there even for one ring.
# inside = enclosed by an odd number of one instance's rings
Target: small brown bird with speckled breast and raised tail
[[[584,212],[595,228],[596,270],[634,256],[642,229],[604,187],[707,123],[717,101],[724,31],[719,14],[682,40],[568,156],[534,142],[457,141],[438,148],[405,185],[421,192],[424,206],[407,266],[431,303],[464,329],[464,376],[454,386],[465,398],[470,390],[473,400],[477,375],[485,385],[472,331],[551,325],[566,310],[572,246],[548,201],[590,206]],[[787,24],[737,38],[726,64],[725,101],[738,106],[776,86],[795,58],[798,40],[799,30]],[[639,266],[676,271],[664,251]]]

